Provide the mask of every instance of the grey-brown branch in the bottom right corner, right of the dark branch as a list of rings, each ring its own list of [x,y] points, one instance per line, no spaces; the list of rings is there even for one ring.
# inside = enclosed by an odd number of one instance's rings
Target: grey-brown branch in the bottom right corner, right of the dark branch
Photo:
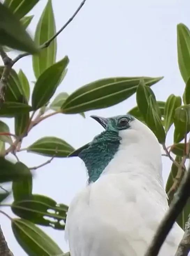
[[[190,214],[185,224],[185,233],[177,248],[175,256],[188,256],[190,251]]]

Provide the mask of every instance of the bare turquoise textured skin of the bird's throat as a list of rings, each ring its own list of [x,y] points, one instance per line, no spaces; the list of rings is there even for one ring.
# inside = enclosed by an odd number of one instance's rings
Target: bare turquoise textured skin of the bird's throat
[[[102,171],[113,159],[120,145],[120,137],[116,131],[104,131],[96,136],[90,146],[79,153],[88,170],[88,182],[95,182]]]

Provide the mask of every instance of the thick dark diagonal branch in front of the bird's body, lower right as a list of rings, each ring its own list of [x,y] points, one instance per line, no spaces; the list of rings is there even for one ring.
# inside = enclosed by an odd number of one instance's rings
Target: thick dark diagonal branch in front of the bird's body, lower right
[[[157,256],[162,244],[164,243],[170,229],[173,227],[178,215],[182,212],[188,198],[190,197],[190,167],[184,175],[177,195],[172,200],[170,208],[166,213],[164,219],[160,223],[152,243],[146,251],[145,256]]]

